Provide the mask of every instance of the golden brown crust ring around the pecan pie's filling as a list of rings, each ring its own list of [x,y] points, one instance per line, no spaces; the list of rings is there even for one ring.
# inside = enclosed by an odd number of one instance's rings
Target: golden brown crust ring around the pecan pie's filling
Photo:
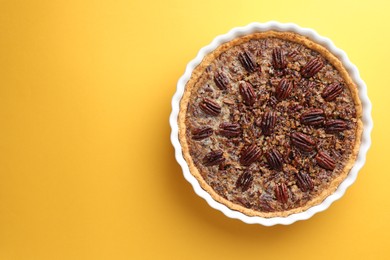
[[[241,205],[232,203],[231,201],[228,201],[227,199],[221,197],[218,195],[203,179],[201,176],[198,168],[195,166],[192,157],[189,153],[189,147],[187,143],[187,136],[186,136],[186,124],[185,124],[185,116],[187,111],[188,102],[191,96],[191,93],[193,91],[194,85],[197,82],[199,76],[203,73],[203,71],[206,69],[206,67],[215,59],[217,58],[221,53],[226,51],[227,49],[231,48],[232,46],[239,45],[242,43],[245,43],[251,39],[261,39],[261,38],[268,38],[268,37],[276,37],[281,38],[284,40],[289,40],[292,42],[296,42],[299,44],[302,44],[312,50],[317,51],[320,53],[323,57],[325,57],[341,74],[343,79],[346,82],[346,85],[348,86],[352,98],[355,102],[355,108],[356,108],[356,118],[357,118],[357,130],[356,130],[356,142],[354,149],[351,153],[349,161],[346,163],[343,171],[340,173],[340,175],[333,179],[330,183],[329,187],[325,189],[322,193],[320,193],[318,196],[310,200],[305,206],[298,207],[286,211],[281,212],[259,212],[252,209],[245,208]],[[250,35],[246,35],[243,37],[236,38],[230,42],[224,43],[220,45],[217,49],[215,49],[213,52],[207,54],[202,62],[193,70],[191,78],[186,84],[185,92],[183,94],[183,97],[180,101],[180,112],[179,112],[179,140],[182,146],[183,150],[183,156],[186,160],[191,174],[198,180],[200,186],[208,192],[212,198],[226,206],[228,206],[232,210],[240,211],[248,216],[260,216],[265,218],[271,218],[271,217],[285,217],[294,213],[299,213],[307,210],[308,208],[320,204],[325,198],[327,198],[329,195],[334,193],[334,191],[337,189],[337,187],[340,185],[340,183],[347,177],[349,171],[351,170],[352,166],[354,165],[356,161],[356,157],[359,153],[359,147],[361,142],[361,135],[363,131],[363,123],[361,121],[362,117],[362,105],[361,101],[359,99],[359,93],[356,85],[354,84],[353,80],[351,79],[350,75],[342,65],[341,61],[335,57],[330,51],[328,51],[325,47],[322,45],[319,45],[307,37],[301,36],[296,33],[292,32],[276,32],[276,31],[267,31],[267,32],[259,32],[254,33]]]

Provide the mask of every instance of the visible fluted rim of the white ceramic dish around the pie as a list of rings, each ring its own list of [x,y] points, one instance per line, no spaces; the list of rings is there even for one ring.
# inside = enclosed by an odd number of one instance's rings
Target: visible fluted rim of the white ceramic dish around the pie
[[[309,209],[307,209],[304,212],[292,214],[287,217],[274,217],[274,218],[262,218],[262,217],[254,217],[254,216],[247,216],[241,212],[234,211],[225,205],[215,201],[205,190],[203,190],[196,178],[190,173],[188,165],[186,161],[183,158],[181,145],[179,142],[179,136],[178,136],[178,113],[179,113],[179,105],[180,100],[182,98],[182,95],[184,93],[184,89],[186,86],[187,81],[189,80],[192,71],[194,68],[200,64],[202,59],[211,51],[216,49],[219,45],[222,43],[228,42],[230,40],[233,40],[234,38],[251,34],[254,32],[263,32],[268,30],[276,30],[276,31],[288,31],[288,32],[296,32],[298,34],[304,35],[309,37],[311,40],[323,45],[326,47],[329,51],[331,51],[336,57],[340,59],[340,61],[343,63],[344,67],[347,69],[348,73],[350,74],[351,78],[354,80],[356,86],[359,90],[359,97],[362,102],[363,107],[363,117],[362,121],[364,124],[364,129],[362,133],[362,139],[361,139],[361,146],[359,150],[359,155],[357,157],[357,160],[352,167],[349,175],[347,178],[339,185],[337,190],[328,196],[321,204],[318,204],[316,206],[313,206]],[[346,189],[355,181],[357,174],[359,170],[363,167],[365,160],[366,160],[366,153],[371,145],[371,130],[373,127],[372,118],[371,118],[371,102],[367,96],[367,87],[364,81],[360,78],[359,71],[356,68],[355,65],[353,65],[350,60],[347,57],[347,54],[337,48],[333,42],[323,36],[320,36],[316,31],[313,29],[307,29],[307,28],[301,28],[296,24],[293,23],[279,23],[275,21],[267,22],[267,23],[251,23],[244,27],[236,27],[230,30],[228,33],[219,35],[215,37],[215,39],[207,46],[200,49],[198,52],[198,55],[190,61],[186,67],[185,73],[181,78],[179,79],[177,83],[177,90],[172,98],[172,113],[169,118],[170,125],[172,128],[171,132],[171,142],[175,148],[175,155],[176,160],[180,164],[183,170],[184,177],[188,182],[190,182],[196,192],[200,197],[204,198],[207,203],[217,209],[223,212],[226,216],[230,218],[240,219],[245,223],[248,224],[262,224],[265,226],[272,226],[276,224],[283,224],[288,225],[292,224],[298,220],[305,220],[313,216],[314,214],[324,211],[327,209],[334,201],[341,198]]]

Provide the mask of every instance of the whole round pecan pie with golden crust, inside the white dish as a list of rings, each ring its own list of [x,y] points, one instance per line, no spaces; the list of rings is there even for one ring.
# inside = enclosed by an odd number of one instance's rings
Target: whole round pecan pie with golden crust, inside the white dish
[[[277,217],[321,203],[362,133],[357,88],[325,47],[292,32],[236,38],[205,56],[180,102],[190,172],[214,200]]]

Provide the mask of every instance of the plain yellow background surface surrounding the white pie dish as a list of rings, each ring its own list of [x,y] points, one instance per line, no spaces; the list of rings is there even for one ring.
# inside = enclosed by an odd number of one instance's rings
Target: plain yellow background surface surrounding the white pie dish
[[[389,259],[389,11],[385,0],[0,0],[0,259]],[[268,20],[344,49],[375,123],[346,195],[271,228],[195,195],[168,124],[197,51]]]

